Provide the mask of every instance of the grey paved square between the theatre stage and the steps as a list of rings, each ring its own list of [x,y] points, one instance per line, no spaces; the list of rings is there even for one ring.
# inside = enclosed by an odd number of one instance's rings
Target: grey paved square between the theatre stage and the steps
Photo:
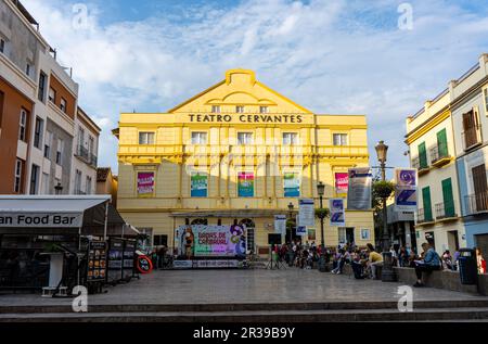
[[[90,295],[91,305],[397,302],[399,283],[356,280],[318,270],[164,270]],[[488,300],[439,289],[414,289],[414,301]],[[60,305],[70,300],[0,295],[0,306]]]

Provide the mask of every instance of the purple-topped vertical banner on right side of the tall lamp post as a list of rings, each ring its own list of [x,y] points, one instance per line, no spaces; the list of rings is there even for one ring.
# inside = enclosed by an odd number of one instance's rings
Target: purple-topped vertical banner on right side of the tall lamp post
[[[395,211],[415,212],[416,211],[416,169],[396,168],[395,169]]]

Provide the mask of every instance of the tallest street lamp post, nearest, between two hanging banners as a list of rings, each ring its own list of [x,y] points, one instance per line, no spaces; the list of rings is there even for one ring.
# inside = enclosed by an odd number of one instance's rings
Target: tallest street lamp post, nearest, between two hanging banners
[[[382,171],[382,180],[386,181],[386,156],[388,153],[388,146],[384,141],[380,141],[376,146],[377,160],[380,162],[380,168]],[[393,257],[391,252],[389,252],[389,234],[388,234],[388,213],[386,208],[386,198],[383,198],[383,269],[382,269],[382,281],[393,282],[395,281],[395,276],[393,272]]]

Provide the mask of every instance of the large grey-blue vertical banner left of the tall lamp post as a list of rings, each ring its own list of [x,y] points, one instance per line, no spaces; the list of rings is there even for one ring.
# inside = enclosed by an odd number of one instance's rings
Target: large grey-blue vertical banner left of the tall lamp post
[[[370,167],[349,168],[347,208],[351,211],[371,209],[371,188],[373,175]]]

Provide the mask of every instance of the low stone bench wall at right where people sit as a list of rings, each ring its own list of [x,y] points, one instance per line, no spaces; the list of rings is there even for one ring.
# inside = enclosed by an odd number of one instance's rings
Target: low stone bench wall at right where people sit
[[[416,282],[415,269],[413,268],[394,267],[394,272],[399,283],[413,285]],[[426,286],[488,295],[488,275],[478,276],[478,285],[461,284],[459,272],[451,270],[424,272],[422,273],[422,278]]]

